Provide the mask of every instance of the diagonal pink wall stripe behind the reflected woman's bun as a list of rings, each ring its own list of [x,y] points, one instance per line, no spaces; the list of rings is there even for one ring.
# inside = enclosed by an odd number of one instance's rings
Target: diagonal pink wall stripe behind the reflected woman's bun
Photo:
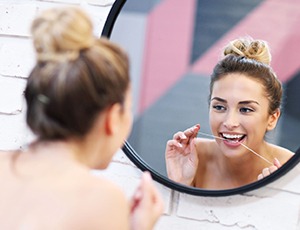
[[[271,46],[272,67],[287,81],[300,70],[300,1],[267,0],[209,49],[192,67],[196,73],[210,74],[223,46],[230,40],[249,35],[267,40]]]

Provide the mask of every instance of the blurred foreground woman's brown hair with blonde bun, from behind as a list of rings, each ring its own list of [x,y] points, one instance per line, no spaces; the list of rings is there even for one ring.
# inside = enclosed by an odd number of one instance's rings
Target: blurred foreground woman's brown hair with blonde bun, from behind
[[[40,139],[83,137],[97,115],[123,103],[127,54],[95,38],[91,20],[75,7],[42,12],[31,31],[37,63],[25,90],[27,123]]]

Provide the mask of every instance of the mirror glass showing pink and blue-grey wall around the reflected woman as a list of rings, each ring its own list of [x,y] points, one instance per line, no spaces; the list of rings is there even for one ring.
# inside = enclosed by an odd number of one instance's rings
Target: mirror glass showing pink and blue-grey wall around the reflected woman
[[[285,89],[277,127],[265,138],[296,152],[300,143],[299,9],[300,2],[292,0],[127,0],[110,39],[121,44],[131,59],[134,126],[127,142],[137,154],[133,158],[158,180],[170,182],[166,143],[194,124],[211,133],[210,74],[224,45],[243,36],[268,41],[271,66]]]

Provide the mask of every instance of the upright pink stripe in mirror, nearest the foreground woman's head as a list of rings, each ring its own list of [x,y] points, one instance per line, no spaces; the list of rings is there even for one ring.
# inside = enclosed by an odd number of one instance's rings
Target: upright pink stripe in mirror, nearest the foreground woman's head
[[[187,70],[195,0],[164,0],[149,14],[140,107],[143,111]]]

